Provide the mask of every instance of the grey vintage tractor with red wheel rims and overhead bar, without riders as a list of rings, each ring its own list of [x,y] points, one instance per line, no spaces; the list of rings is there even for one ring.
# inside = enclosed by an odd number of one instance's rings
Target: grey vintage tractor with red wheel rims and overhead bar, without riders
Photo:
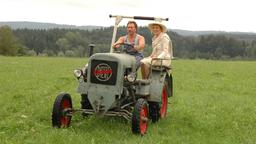
[[[116,18],[112,44],[123,18],[168,20],[140,16],[110,17]],[[173,81],[170,67],[162,65],[152,66],[148,79],[138,79],[135,63],[134,56],[114,52],[112,47],[110,53],[91,55],[85,68],[74,71],[78,80],[77,92],[81,95],[81,109],[73,108],[70,94],[59,94],[53,104],[52,125],[68,127],[75,112],[84,116],[121,116],[131,121],[133,133],[144,135],[150,121],[157,122],[166,116],[168,97],[173,94]]]

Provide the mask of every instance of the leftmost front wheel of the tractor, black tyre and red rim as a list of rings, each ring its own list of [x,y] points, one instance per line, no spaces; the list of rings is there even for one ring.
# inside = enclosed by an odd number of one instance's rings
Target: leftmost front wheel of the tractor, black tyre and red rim
[[[52,109],[52,126],[53,127],[68,127],[72,116],[72,100],[68,93],[59,94],[53,104]]]

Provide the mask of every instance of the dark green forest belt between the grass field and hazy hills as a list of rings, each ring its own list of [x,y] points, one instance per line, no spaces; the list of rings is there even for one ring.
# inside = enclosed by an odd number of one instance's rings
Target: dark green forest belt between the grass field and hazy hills
[[[85,57],[89,44],[94,53],[108,52],[113,27],[93,30],[81,29],[11,29],[0,27],[0,55],[7,56],[67,56]],[[119,27],[117,37],[126,33]],[[151,33],[139,27],[138,33],[146,40],[144,54],[151,53]],[[184,59],[256,59],[256,36],[207,34],[181,36],[168,31],[172,39],[174,57]]]

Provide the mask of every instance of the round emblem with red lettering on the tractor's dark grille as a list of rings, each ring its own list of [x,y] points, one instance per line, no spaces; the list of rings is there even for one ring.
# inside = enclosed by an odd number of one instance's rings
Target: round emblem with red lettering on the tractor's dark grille
[[[108,81],[112,73],[111,67],[106,63],[98,64],[93,71],[93,74],[99,81]]]

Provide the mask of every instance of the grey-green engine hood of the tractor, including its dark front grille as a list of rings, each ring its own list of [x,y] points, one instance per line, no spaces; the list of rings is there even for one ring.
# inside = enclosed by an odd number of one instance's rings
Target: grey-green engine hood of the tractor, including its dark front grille
[[[114,107],[123,92],[125,70],[136,71],[134,56],[118,53],[96,53],[88,63],[87,94],[97,114]]]

